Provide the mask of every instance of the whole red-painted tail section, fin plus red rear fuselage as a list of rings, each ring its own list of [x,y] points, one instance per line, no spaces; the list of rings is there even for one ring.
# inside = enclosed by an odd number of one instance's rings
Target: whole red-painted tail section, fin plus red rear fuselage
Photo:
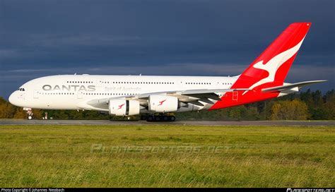
[[[238,93],[238,100],[216,102],[211,109],[232,107],[277,97],[279,92],[262,93],[261,88],[283,85],[290,66],[305,39],[311,23],[292,23],[239,76],[231,88],[249,88]],[[226,93],[229,98],[232,93]]]

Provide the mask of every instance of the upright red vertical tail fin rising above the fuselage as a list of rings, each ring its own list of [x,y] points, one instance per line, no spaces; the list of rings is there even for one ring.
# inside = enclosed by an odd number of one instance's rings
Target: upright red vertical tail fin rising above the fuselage
[[[305,39],[310,25],[311,23],[290,24],[241,74],[240,78],[252,81],[248,83],[247,87],[252,86],[252,83],[257,83],[257,81],[263,80],[264,78],[271,78],[269,80],[283,82],[298,53],[302,41]],[[239,80],[237,80],[236,84],[240,84]],[[243,83],[242,86],[246,85]]]

